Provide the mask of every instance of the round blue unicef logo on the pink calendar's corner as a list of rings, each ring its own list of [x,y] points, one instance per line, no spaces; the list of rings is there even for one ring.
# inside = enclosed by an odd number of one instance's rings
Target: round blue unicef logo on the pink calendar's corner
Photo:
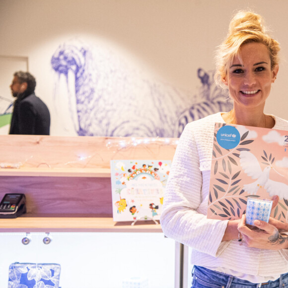
[[[234,126],[225,125],[218,130],[216,139],[221,147],[232,149],[239,144],[240,133]]]

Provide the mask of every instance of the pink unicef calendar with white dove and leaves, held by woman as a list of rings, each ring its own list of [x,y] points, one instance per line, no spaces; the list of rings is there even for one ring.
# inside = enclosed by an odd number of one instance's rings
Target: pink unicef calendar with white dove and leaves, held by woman
[[[237,219],[248,196],[274,195],[271,216],[288,222],[288,131],[216,123],[207,217]]]

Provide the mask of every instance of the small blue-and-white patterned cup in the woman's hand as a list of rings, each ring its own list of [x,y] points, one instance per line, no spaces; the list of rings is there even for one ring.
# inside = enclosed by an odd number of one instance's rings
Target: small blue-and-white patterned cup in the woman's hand
[[[262,220],[268,223],[271,209],[272,200],[259,199],[257,197],[249,196],[247,199],[246,208],[246,224],[254,225],[254,220]]]

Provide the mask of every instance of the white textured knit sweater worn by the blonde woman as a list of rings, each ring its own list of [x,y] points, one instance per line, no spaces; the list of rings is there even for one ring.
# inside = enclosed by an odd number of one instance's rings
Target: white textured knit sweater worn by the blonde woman
[[[271,115],[274,129],[288,121]],[[164,195],[161,226],[167,237],[192,247],[191,262],[254,283],[288,272],[288,249],[265,250],[221,241],[228,220],[207,219],[214,125],[221,113],[189,123],[179,140]]]

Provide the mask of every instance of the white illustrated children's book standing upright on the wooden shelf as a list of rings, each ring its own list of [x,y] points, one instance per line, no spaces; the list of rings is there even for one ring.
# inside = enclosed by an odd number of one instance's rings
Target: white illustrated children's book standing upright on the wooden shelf
[[[170,160],[111,160],[114,221],[158,220]]]

